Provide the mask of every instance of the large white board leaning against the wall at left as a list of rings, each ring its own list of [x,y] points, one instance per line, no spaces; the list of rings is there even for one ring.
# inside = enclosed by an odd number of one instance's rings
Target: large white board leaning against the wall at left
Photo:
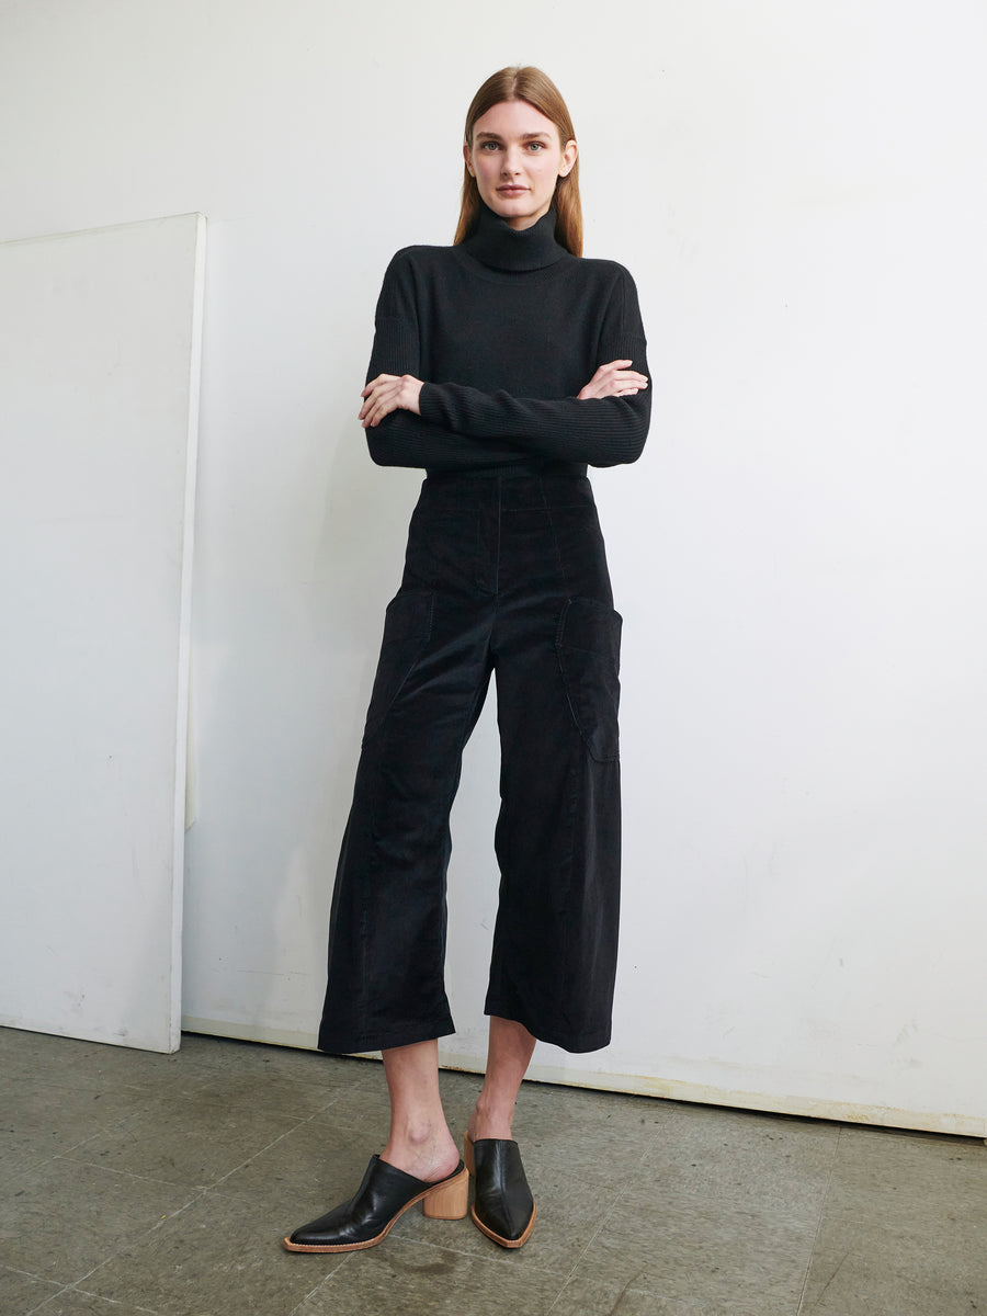
[[[0,243],[0,1024],[172,1051],[205,220]]]

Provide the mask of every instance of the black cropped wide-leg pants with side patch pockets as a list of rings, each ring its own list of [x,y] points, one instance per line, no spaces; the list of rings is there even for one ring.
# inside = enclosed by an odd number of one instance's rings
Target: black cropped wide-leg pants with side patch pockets
[[[496,679],[499,911],[486,1012],[605,1046],[620,899],[620,617],[578,475],[429,476],[387,608],[329,930],[334,1054],[454,1032],[449,811]]]

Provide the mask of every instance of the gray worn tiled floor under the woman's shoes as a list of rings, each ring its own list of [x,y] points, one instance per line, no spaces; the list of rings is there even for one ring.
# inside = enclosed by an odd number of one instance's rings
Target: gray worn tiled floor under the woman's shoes
[[[459,1133],[478,1079],[442,1087]],[[283,1252],[386,1108],[368,1061],[0,1029],[0,1312],[987,1316],[982,1142],[536,1083],[520,1252],[418,1208],[368,1252]]]

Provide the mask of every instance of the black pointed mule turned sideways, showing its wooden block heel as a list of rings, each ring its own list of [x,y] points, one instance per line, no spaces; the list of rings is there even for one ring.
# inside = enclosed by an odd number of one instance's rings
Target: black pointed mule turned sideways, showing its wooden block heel
[[[349,1202],[284,1240],[288,1252],[358,1252],[387,1237],[391,1225],[416,1202],[433,1220],[462,1220],[470,1174],[461,1161],[438,1183],[416,1179],[372,1155],[363,1183]]]

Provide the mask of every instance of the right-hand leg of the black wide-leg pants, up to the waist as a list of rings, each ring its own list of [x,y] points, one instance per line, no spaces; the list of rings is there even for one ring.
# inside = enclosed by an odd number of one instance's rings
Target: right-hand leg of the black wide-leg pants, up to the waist
[[[549,491],[551,558],[533,509],[513,521],[505,511],[494,633],[501,878],[486,1011],[588,1051],[609,1041],[616,975],[621,621],[584,482]],[[554,579],[532,554],[554,561]]]

